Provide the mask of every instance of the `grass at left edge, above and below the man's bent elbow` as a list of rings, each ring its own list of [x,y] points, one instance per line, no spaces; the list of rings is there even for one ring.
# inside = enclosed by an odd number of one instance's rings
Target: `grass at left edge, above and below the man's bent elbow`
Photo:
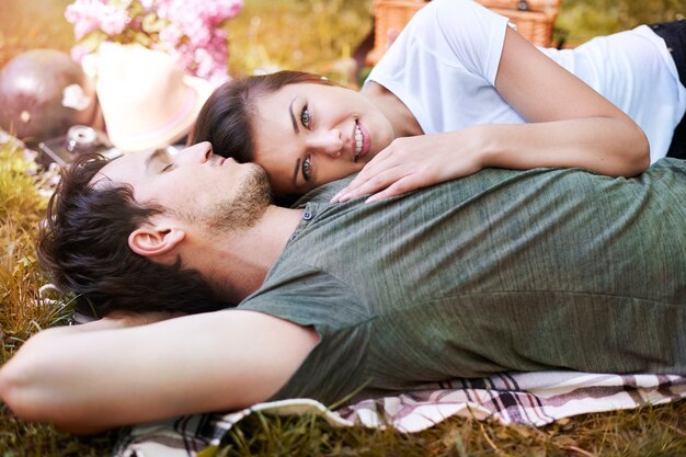
[[[0,358],[9,359],[41,329],[66,323],[70,310],[64,300],[42,297],[46,283],[35,258],[35,233],[44,216],[49,173],[37,173],[35,162],[20,147],[0,145]],[[53,297],[58,298],[58,297]],[[112,436],[84,442],[52,426],[12,418],[0,407],[0,455],[105,455]]]

